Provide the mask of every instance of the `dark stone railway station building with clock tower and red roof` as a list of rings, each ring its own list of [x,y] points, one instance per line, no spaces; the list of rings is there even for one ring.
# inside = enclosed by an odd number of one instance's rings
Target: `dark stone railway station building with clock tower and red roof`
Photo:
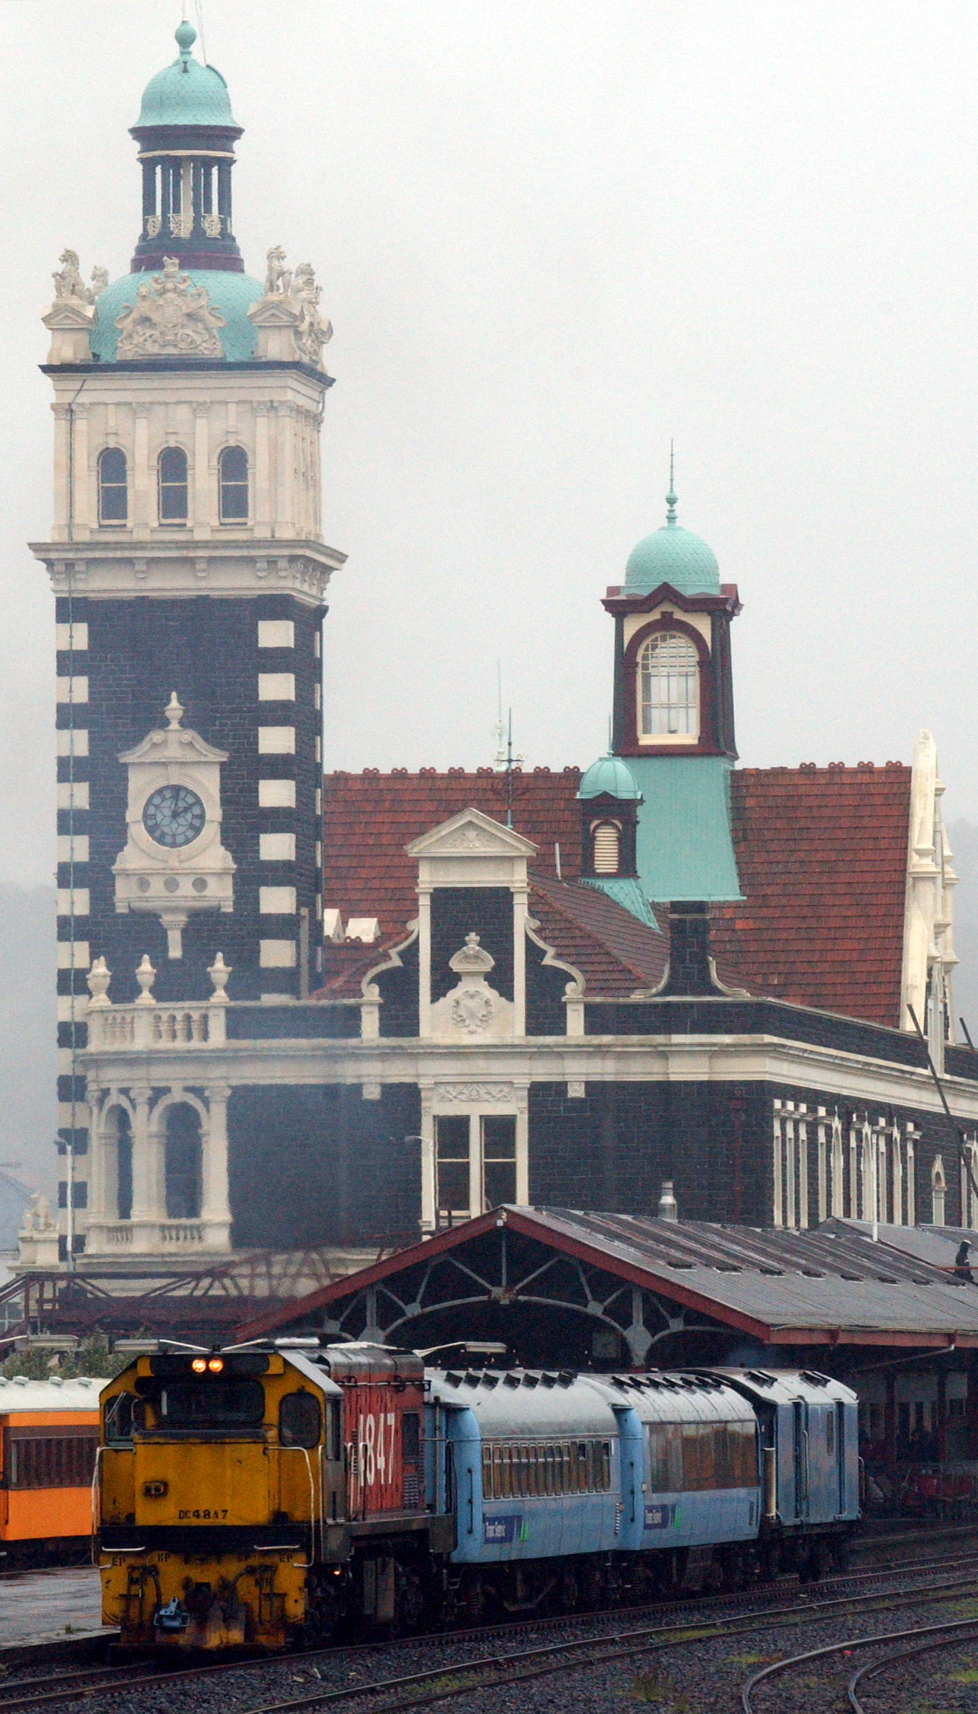
[[[324,776],[331,327],[278,242],[245,273],[242,127],[177,48],[130,269],[65,250],[43,317],[62,1184],[24,1263],[348,1268],[664,1181],[691,1220],[978,1226],[933,739],[740,768],[740,595],[673,488],[607,567],[607,756]]]

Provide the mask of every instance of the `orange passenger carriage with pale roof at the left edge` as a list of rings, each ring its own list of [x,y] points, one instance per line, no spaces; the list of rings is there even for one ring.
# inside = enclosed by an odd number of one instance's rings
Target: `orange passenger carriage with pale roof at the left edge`
[[[91,1544],[98,1380],[0,1376],[0,1555],[63,1563]]]

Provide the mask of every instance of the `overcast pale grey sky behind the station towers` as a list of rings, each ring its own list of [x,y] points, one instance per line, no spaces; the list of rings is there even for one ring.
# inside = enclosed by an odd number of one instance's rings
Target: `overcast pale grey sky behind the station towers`
[[[194,5],[190,5],[194,15]],[[58,250],[125,273],[172,0],[2,0],[0,881],[53,864]],[[664,516],[736,581],[745,764],[909,759],[978,819],[978,7],[204,0],[237,231],[335,324],[326,766],[607,730],[606,584]]]

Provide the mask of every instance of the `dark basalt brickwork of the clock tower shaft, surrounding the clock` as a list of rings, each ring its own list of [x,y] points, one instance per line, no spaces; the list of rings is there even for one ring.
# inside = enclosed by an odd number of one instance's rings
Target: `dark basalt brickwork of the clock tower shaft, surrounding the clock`
[[[259,939],[293,938],[293,917],[261,917],[259,884],[297,888],[297,908],[311,917],[311,941],[317,943],[316,900],[321,881],[316,864],[319,826],[316,790],[321,768],[316,761],[314,686],[319,680],[316,638],[321,615],[290,596],[252,600],[127,600],[77,598],[74,620],[88,624],[88,651],[58,655],[58,674],[88,677],[88,703],[74,710],[75,727],[88,728],[89,756],[75,758],[74,775],[89,782],[91,809],[75,814],[75,833],[89,838],[89,862],[75,866],[75,886],[89,890],[91,915],[79,938],[91,956],[105,956],[113,972],[112,998],[132,1001],[137,994],[136,965],[149,953],[156,967],[154,996],[206,999],[211,992],[208,965],[220,950],[233,967],[228,996],[257,999],[263,991],[297,991],[297,972],[261,972]],[[60,622],[69,620],[69,602],[57,603]],[[293,650],[259,650],[259,619],[292,619]],[[295,703],[259,703],[259,672],[293,672]],[[151,914],[115,912],[112,864],[125,845],[127,768],[118,754],[163,727],[170,692],[184,704],[184,725],[208,744],[228,752],[221,766],[221,840],[237,871],[233,912],[192,915],[184,931],[184,956],[166,956],[166,934]],[[70,723],[58,706],[58,727]],[[257,754],[259,725],[293,725],[295,756]],[[69,778],[69,759],[58,759],[58,778]],[[295,811],[259,809],[259,778],[293,778]],[[69,812],[58,816],[58,831],[70,831]],[[293,831],[295,864],[261,864],[259,831]],[[69,886],[69,867],[58,867],[58,886]],[[58,924],[67,938],[67,924]],[[312,972],[314,974],[314,972]],[[62,974],[62,992],[70,974]],[[81,982],[84,992],[84,980]]]

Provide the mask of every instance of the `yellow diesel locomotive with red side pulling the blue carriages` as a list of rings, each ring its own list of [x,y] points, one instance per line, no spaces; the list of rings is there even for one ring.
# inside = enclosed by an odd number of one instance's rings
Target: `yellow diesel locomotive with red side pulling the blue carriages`
[[[122,1649],[422,1620],[455,1525],[424,1501],[420,1357],[309,1344],[139,1356],[103,1390],[96,1529]]]

